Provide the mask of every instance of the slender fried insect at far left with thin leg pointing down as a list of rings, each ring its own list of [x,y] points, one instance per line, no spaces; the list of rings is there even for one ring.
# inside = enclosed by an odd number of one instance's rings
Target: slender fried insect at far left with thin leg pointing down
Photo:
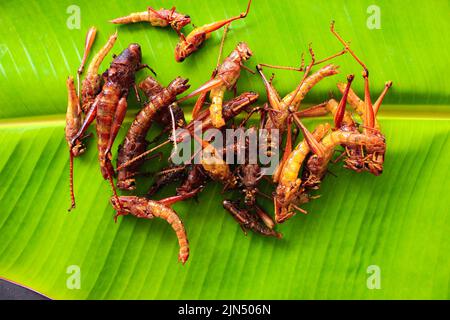
[[[69,145],[70,154],[70,199],[71,207],[69,211],[75,208],[75,194],[73,191],[73,158],[78,157],[85,151],[85,146],[81,138],[74,139],[78,130],[81,128],[81,107],[77,93],[75,91],[75,84],[72,77],[67,78],[67,113],[66,113],[66,141]]]

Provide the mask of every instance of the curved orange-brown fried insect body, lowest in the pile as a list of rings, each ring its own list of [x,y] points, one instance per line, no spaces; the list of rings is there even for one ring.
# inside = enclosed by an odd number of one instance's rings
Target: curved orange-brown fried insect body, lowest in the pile
[[[159,201],[152,201],[146,198],[135,196],[112,197],[111,203],[118,215],[131,214],[137,218],[153,219],[154,217],[166,220],[178,238],[180,246],[178,260],[185,264],[189,258],[189,242],[186,230],[177,213]]]

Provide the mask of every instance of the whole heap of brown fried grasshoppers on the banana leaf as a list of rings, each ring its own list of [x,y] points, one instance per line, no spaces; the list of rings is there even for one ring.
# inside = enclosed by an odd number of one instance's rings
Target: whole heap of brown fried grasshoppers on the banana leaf
[[[224,27],[222,51],[229,24],[234,20],[245,18],[250,4],[251,0],[246,12],[223,21],[196,27],[187,36],[182,34],[181,29],[191,22],[190,17],[178,13],[175,8],[170,10],[148,8],[147,11],[133,13],[111,22],[118,24],[149,22],[152,26],[172,27],[180,38],[175,48],[175,59],[181,62],[198,50],[212,32]],[[335,31],[334,23],[331,24],[331,32],[344,45],[342,51],[331,57],[316,61],[310,46],[311,62],[306,67],[303,58],[302,64],[298,68],[269,64],[257,65],[256,69],[266,88],[268,101],[257,107],[253,104],[259,95],[254,92],[244,92],[240,95],[235,93],[233,99],[223,101],[224,93],[227,90],[236,90],[236,82],[241,69],[248,70],[255,76],[257,74],[244,66],[245,61],[252,56],[252,51],[244,42],[238,43],[223,62],[217,64],[208,81],[182,98],[178,99],[177,96],[189,88],[187,79],[177,77],[167,87],[164,87],[155,78],[148,76],[139,84],[139,88],[147,98],[146,102],[143,103],[141,110],[128,129],[124,141],[119,146],[117,166],[114,169],[111,148],[125,117],[129,90],[133,88],[139,97],[135,74],[143,68],[150,70],[151,68],[141,63],[140,46],[130,44],[120,55],[114,57],[110,67],[103,74],[99,74],[100,64],[117,39],[117,33],[113,34],[92,58],[81,83],[80,95],[80,75],[83,73],[84,64],[96,35],[96,29],[91,28],[86,37],[85,52],[77,72],[78,92],[75,89],[73,78],[69,77],[67,80],[66,140],[70,148],[71,208],[75,207],[73,158],[85,150],[83,139],[87,137],[86,130],[94,119],[96,120],[100,169],[103,178],[109,181],[113,190],[111,203],[117,211],[116,218],[118,215],[131,214],[138,218],[159,217],[166,220],[178,237],[180,245],[178,258],[183,264],[189,256],[188,239],[183,222],[171,206],[178,201],[196,196],[208,181],[218,181],[226,186],[227,190],[239,191],[242,199],[240,201],[223,200],[223,207],[230,212],[244,232],[252,230],[266,236],[281,237],[281,234],[274,230],[276,223],[286,221],[297,211],[306,213],[301,205],[315,198],[312,191],[320,187],[330,161],[343,161],[344,167],[350,170],[369,171],[374,175],[379,175],[383,170],[386,143],[376,115],[392,82],[386,83],[378,99],[372,103],[367,67],[351,50],[349,44]],[[346,82],[337,84],[342,93],[340,101],[329,99],[319,105],[300,109],[305,95],[319,81],[338,73],[338,66],[333,64],[324,65],[315,72],[312,72],[312,68],[346,53],[351,54],[363,68],[364,100],[361,100],[350,88],[354,76],[348,75]],[[298,86],[281,98],[272,85],[272,79],[267,79],[263,73],[263,67],[304,73]],[[153,70],[151,71],[153,72]],[[206,101],[208,93],[209,103]],[[230,122],[233,122],[236,116],[245,112],[247,117],[240,124],[241,126],[245,125],[249,116],[259,114],[259,127],[251,126],[250,129],[263,128],[268,132],[277,129],[278,132],[283,133],[284,137],[279,139],[271,139],[270,134],[267,138],[270,148],[280,148],[281,151],[281,159],[275,173],[272,176],[265,176],[274,185],[271,196],[258,189],[258,183],[264,176],[258,163],[244,161],[242,164],[230,166],[224,160],[225,153],[246,148],[245,141],[243,145],[225,146],[224,150],[214,150],[211,141],[195,135],[192,122],[185,122],[183,110],[179,105],[180,102],[194,96],[198,96],[198,99],[192,111],[192,119],[202,122],[202,130],[225,129],[230,126]],[[346,110],[347,101],[353,108],[353,113]],[[205,104],[209,104],[209,108],[202,110]],[[334,118],[333,128],[328,123],[323,123],[310,132],[301,121],[305,117],[327,114]],[[361,118],[362,124],[354,120],[354,114]],[[165,139],[165,141],[159,146],[149,149],[150,143],[146,140],[146,136],[153,122],[162,126],[163,133],[159,138]],[[155,182],[146,196],[119,196],[116,186],[121,190],[134,190],[136,187],[135,177],[139,168],[146,160],[153,157],[152,153],[156,149],[162,145],[176,144],[177,141],[180,141],[182,137],[175,136],[176,128],[187,129],[189,134],[197,142],[200,142],[202,150],[205,151],[204,154],[208,154],[212,159],[202,158],[200,163],[189,165],[175,165],[169,159],[168,167],[156,175]],[[292,132],[297,134],[300,131],[303,134],[303,140],[294,146],[293,141],[295,142],[296,139],[292,137],[294,135]],[[336,150],[341,150],[341,155],[337,158],[334,157]],[[116,184],[114,183],[115,177],[117,178]],[[159,189],[174,181],[181,181],[176,189],[176,195],[162,200],[151,199]],[[258,196],[273,199],[274,217],[258,206]]]

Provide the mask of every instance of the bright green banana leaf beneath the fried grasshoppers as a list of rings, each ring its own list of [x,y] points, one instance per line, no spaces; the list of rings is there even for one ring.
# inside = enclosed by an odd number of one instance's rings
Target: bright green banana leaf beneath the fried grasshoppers
[[[320,59],[342,49],[329,32],[335,20],[369,67],[374,98],[386,80],[394,82],[379,117],[388,145],[383,174],[357,174],[331,165],[334,175],[324,180],[321,197],[305,205],[309,214],[277,226],[283,239],[245,236],[222,209],[222,187],[211,183],[197,201],[174,206],[191,246],[183,266],[165,221],[127,216],[114,223],[110,188],[99,173],[91,139],[87,153],[75,161],[77,208],[67,213],[65,79],[76,73],[87,29],[99,29],[94,50],[117,29],[115,53],[137,42],[161,83],[180,75],[195,88],[215,67],[221,31],[178,64],[172,30],[144,23],[118,27],[108,20],[147,5],[175,5],[200,26],[239,14],[246,1],[4,0],[0,277],[56,299],[450,298],[449,2],[377,1],[380,29],[368,27],[374,1],[253,2],[249,16],[232,24],[224,54],[246,41],[254,52],[250,68],[261,62],[296,66],[311,42]],[[71,29],[77,8],[80,28]],[[103,70],[110,61],[109,56]],[[322,102],[330,92],[339,96],[335,83],[349,73],[356,74],[353,87],[362,96],[361,67],[350,55],[335,63],[341,73],[314,88],[307,103]],[[276,74],[280,94],[292,90],[302,76]],[[142,71],[138,79],[145,76]],[[238,91],[245,90],[263,93],[260,78],[243,71]],[[131,111],[118,142],[133,108],[138,104],[130,97]],[[321,121],[305,120],[310,127]],[[153,161],[146,169],[154,172],[162,166]],[[138,192],[143,192],[151,179],[140,182]],[[173,191],[168,188],[158,197]],[[270,202],[262,204],[272,211]],[[73,266],[79,267],[79,288],[69,283]],[[379,287],[371,286],[374,276]]]

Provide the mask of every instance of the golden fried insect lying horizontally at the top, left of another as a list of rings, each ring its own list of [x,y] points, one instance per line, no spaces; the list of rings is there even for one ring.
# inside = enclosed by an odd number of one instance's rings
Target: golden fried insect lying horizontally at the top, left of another
[[[147,11],[134,12],[125,17],[110,20],[109,22],[115,24],[148,22],[154,27],[170,26],[179,33],[184,26],[191,23],[191,18],[186,14],[176,12],[175,7],[170,10],[164,8],[155,10],[152,7],[148,7]]]

